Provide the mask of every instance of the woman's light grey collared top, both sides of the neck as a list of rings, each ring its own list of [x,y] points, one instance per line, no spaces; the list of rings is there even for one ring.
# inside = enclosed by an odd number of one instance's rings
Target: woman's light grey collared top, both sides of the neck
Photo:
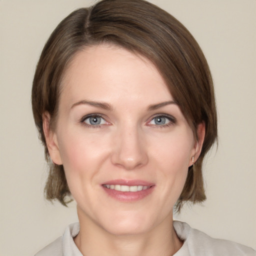
[[[256,251],[236,242],[215,239],[191,228],[187,223],[173,221],[178,237],[184,241],[174,256],[256,256]],[[73,237],[79,232],[79,223],[67,226],[63,236],[37,252],[35,256],[82,256],[76,247]]]

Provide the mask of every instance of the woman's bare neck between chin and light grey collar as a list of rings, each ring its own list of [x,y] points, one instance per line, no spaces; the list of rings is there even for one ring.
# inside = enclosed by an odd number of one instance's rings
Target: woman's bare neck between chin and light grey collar
[[[172,216],[145,233],[125,235],[109,233],[88,220],[79,218],[79,222],[80,231],[74,242],[86,256],[170,256],[182,245],[173,228]]]

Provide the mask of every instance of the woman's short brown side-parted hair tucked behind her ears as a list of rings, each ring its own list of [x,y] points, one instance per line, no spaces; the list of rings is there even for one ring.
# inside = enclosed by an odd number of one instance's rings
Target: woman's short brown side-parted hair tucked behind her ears
[[[217,137],[214,90],[208,64],[189,31],[169,13],[144,0],[101,0],[89,8],[77,9],[58,24],[42,50],[33,79],[32,109],[49,164],[46,198],[58,199],[66,205],[70,191],[63,166],[50,161],[42,115],[47,111],[50,123],[54,123],[60,82],[68,63],[77,51],[99,43],[119,45],[151,60],[195,138],[197,125],[204,122],[202,150],[188,169],[176,208],[180,210],[184,201],[203,201],[206,197],[202,160]]]

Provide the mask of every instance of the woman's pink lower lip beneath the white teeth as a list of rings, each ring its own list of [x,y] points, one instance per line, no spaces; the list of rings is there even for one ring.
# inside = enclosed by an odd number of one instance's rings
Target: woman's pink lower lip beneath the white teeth
[[[104,186],[102,186],[102,188],[109,196],[113,197],[114,199],[119,200],[119,201],[129,202],[129,201],[140,200],[140,199],[146,197],[147,195],[149,195],[153,191],[154,185],[150,186],[147,189],[136,191],[136,192],[117,191],[114,189],[106,188]]]

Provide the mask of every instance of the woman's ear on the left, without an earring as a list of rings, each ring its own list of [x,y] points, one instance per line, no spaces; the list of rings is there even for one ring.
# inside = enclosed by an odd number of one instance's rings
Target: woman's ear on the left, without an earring
[[[42,115],[42,128],[51,160],[55,164],[62,164],[57,136],[50,127],[50,114],[48,112],[44,112]]]

